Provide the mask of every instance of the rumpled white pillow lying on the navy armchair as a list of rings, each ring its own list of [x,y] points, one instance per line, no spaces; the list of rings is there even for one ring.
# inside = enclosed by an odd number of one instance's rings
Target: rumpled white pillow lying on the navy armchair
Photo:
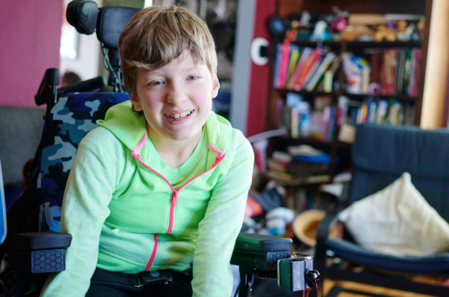
[[[395,256],[425,256],[449,250],[449,224],[403,173],[385,189],[339,215],[362,247]]]

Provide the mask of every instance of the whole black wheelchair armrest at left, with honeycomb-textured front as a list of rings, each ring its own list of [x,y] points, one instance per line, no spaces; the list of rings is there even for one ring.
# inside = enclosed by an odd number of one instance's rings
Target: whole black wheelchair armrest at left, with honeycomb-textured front
[[[8,238],[6,251],[12,270],[52,273],[66,269],[66,247],[72,236],[64,233],[18,233]]]

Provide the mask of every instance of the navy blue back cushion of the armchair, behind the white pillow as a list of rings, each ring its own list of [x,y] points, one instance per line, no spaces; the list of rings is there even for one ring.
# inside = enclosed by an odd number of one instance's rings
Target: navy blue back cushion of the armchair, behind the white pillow
[[[413,185],[449,222],[449,130],[361,124],[352,147],[349,203],[411,175]]]

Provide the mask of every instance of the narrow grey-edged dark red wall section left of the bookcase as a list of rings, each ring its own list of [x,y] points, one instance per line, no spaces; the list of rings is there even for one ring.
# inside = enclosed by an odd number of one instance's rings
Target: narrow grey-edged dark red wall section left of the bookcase
[[[251,51],[256,38],[270,41],[267,20],[275,12],[275,0],[238,3],[230,122],[245,136],[266,130],[271,66],[268,62],[256,64]]]

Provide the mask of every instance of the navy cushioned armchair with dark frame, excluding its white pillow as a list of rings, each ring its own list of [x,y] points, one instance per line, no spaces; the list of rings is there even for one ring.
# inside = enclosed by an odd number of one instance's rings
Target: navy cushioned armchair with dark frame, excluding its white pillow
[[[327,236],[340,210],[384,189],[404,172],[410,173],[415,188],[449,222],[449,131],[362,124],[356,132],[351,159],[353,178],[346,202],[332,210],[318,226],[314,258],[316,269],[324,278],[331,280],[349,280],[432,296],[449,296],[449,287],[416,282],[411,277],[448,274],[449,242],[446,252],[401,256],[366,249],[356,244],[348,232],[344,233],[343,239]],[[363,266],[364,269],[360,273],[341,268],[336,261],[332,261],[335,259]]]

